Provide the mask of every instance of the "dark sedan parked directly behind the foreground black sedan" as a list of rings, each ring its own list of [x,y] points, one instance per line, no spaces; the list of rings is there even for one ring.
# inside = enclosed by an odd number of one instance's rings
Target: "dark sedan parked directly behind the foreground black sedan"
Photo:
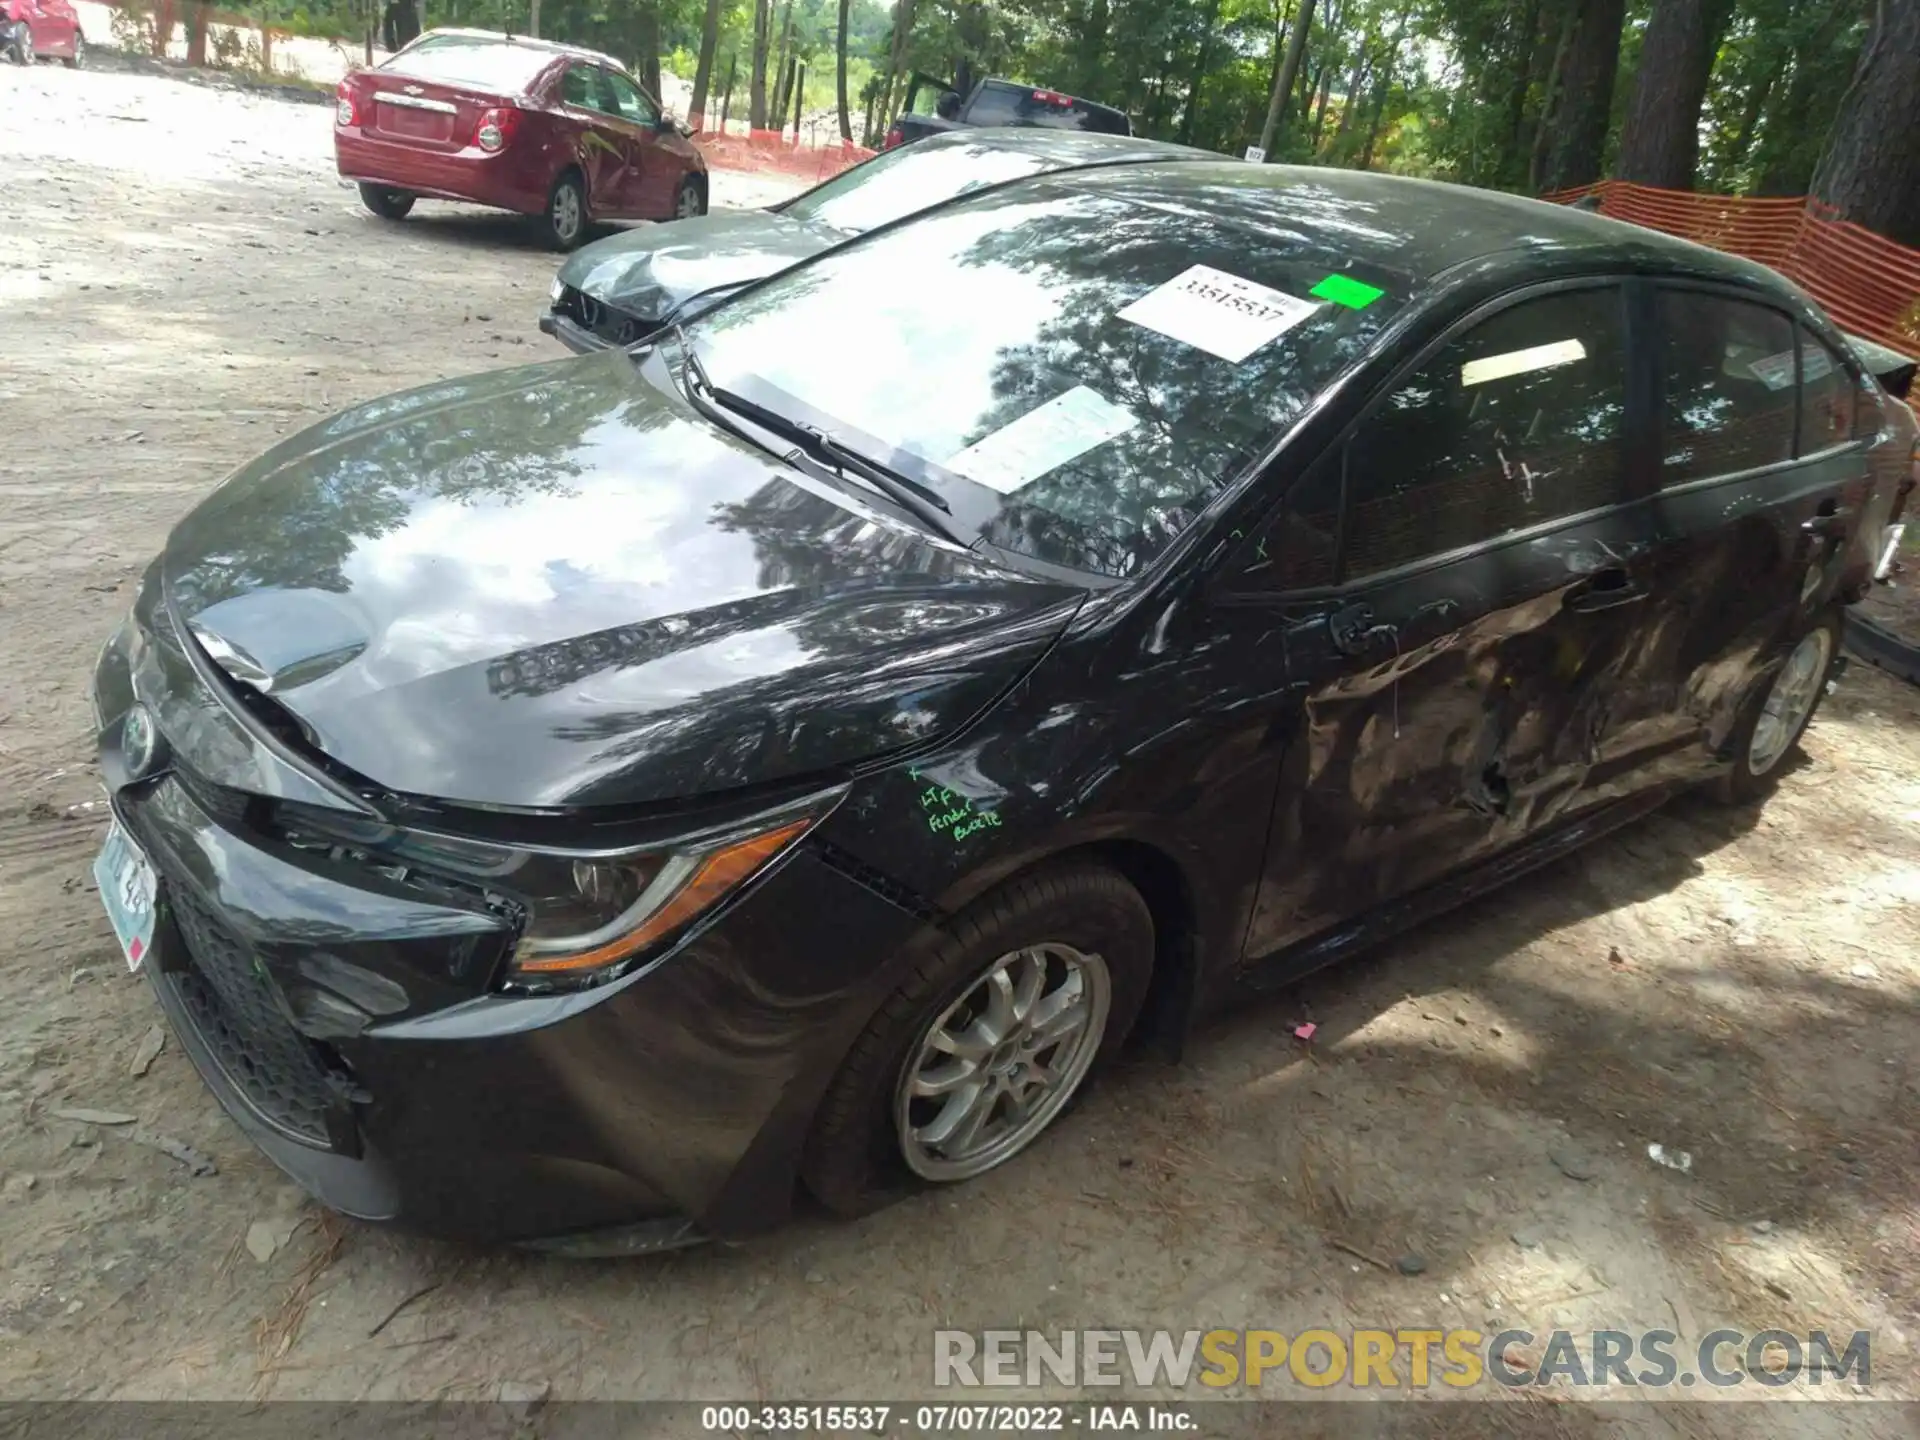
[[[952,131],[887,150],[766,209],[643,225],[576,250],[540,328],[572,351],[630,346],[672,319],[856,234],[956,196],[1052,171],[1213,159],[1210,150],[1071,131]]]

